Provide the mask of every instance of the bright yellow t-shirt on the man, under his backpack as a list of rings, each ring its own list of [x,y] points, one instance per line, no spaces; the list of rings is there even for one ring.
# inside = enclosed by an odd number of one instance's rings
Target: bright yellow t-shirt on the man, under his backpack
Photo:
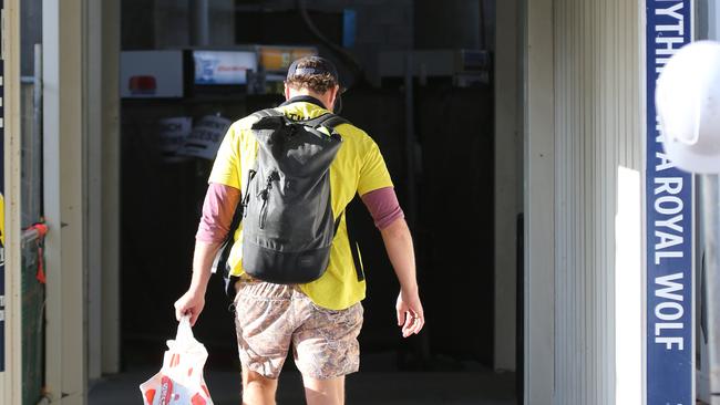
[[[310,102],[294,102],[277,108],[291,120],[311,120],[329,111]],[[254,167],[258,145],[249,131],[257,121],[247,116],[235,122],[217,152],[209,181],[235,187],[245,193],[244,177]],[[333,217],[337,219],[344,211],[356,193],[391,187],[392,180],[378,145],[360,128],[350,124],[340,124],[336,131],[342,136],[342,144],[330,165],[330,189]],[[232,274],[240,276],[243,271],[243,226],[235,233],[235,243],[230,250],[228,263]],[[330,263],[318,280],[299,285],[312,302],[331,309],[342,310],[364,299],[366,282],[358,280],[348,240],[344,216],[330,248]]]

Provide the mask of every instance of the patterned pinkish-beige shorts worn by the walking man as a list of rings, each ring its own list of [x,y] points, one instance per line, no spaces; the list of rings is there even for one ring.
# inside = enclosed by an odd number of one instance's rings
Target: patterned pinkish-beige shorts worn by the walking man
[[[359,302],[332,311],[312,303],[297,285],[243,280],[236,288],[235,326],[244,367],[277,378],[291,343],[302,375],[325,380],[358,371]]]

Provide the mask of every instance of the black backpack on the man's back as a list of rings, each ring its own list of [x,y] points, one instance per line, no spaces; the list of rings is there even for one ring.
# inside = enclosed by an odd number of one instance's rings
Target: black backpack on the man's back
[[[243,269],[259,280],[295,284],[319,279],[342,215],[333,220],[330,164],[342,137],[335,127],[348,123],[335,114],[292,121],[263,110],[251,132],[258,143],[255,167],[245,173],[245,194],[214,267],[225,270],[226,292],[235,295],[227,258],[243,221]],[[325,127],[330,135],[318,131]]]

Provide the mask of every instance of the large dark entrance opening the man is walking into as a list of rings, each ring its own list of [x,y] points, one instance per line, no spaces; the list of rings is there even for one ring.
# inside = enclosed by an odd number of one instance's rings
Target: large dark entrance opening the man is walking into
[[[373,384],[380,384],[373,375],[392,375],[400,386],[414,387],[398,393],[402,399],[412,399],[408,395],[420,388],[418,395],[425,397],[419,401],[430,403],[514,403],[513,373],[493,371],[495,1],[456,0],[442,8],[433,1],[344,1],[307,9],[304,3],[122,2],[123,368],[158,367],[177,325],[173,303],[189,283],[213,160],[183,149],[188,133],[207,120],[234,122],[278,105],[284,101],[282,58],[317,52],[336,62],[349,86],[342,116],[366,131],[383,154],[413,233],[426,316],[421,334],[402,339],[394,313],[399,285],[380,233],[359,205],[353,224],[368,297],[361,373],[350,377],[348,395],[372,395]],[[202,4],[207,9],[198,10]],[[209,62],[248,55],[257,62],[250,58],[251,70],[240,79],[222,79]],[[274,62],[274,55],[280,61]],[[204,81],[203,69],[218,76]],[[216,134],[207,134],[204,146],[212,148]],[[514,257],[516,249],[510,246],[501,255]],[[194,332],[208,349],[206,370],[234,372],[235,377],[217,381],[237,393],[239,362],[228,305],[222,279],[214,276]],[[517,314],[508,316],[514,323]],[[292,368],[286,362],[282,378],[297,381]],[[416,378],[425,380],[418,385]],[[353,381],[366,392],[353,390]]]

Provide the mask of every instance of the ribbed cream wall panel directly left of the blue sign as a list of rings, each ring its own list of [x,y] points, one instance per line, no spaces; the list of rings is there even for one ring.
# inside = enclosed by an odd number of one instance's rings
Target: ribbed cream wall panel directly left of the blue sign
[[[616,190],[619,167],[641,168],[639,23],[634,1],[554,2],[556,404],[615,403]]]

